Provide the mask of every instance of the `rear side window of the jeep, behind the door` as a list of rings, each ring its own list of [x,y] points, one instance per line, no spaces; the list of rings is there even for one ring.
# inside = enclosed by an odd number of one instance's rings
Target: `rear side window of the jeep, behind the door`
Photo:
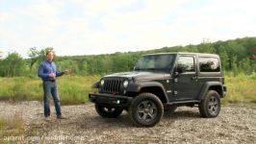
[[[199,57],[200,72],[220,72],[218,58]]]

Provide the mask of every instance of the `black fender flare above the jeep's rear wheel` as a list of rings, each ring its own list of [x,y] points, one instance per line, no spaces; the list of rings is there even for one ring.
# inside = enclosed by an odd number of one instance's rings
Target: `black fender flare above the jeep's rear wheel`
[[[198,100],[203,100],[207,91],[210,89],[211,86],[218,86],[220,88],[220,91],[218,91],[218,94],[220,97],[223,96],[223,86],[220,82],[207,82],[205,84],[203,84],[200,93],[198,95]],[[220,93],[219,93],[220,92]]]

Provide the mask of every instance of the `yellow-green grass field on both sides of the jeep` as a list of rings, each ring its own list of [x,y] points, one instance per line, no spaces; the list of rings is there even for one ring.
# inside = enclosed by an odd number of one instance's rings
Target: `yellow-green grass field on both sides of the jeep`
[[[91,84],[99,76],[64,76],[58,79],[59,92],[63,105],[83,104],[88,102]],[[0,78],[0,99],[7,100],[42,100],[42,85],[38,78]],[[256,104],[256,74],[237,77],[225,76],[227,96],[223,103]]]

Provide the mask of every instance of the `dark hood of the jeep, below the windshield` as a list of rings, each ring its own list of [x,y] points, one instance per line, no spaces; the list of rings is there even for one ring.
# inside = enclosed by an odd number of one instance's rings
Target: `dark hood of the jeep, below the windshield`
[[[134,79],[135,81],[143,81],[143,80],[158,80],[158,79],[166,79],[170,77],[170,74],[164,72],[141,72],[141,71],[131,71],[131,72],[122,72],[122,73],[114,73],[105,78],[128,78]]]

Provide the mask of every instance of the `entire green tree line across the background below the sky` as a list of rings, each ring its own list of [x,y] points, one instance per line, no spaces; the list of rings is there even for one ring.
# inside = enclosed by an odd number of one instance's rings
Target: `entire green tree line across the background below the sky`
[[[0,55],[0,77],[37,77],[38,64],[45,60],[45,52],[52,47],[38,50],[30,48],[29,59],[18,53],[9,53],[6,58]],[[73,75],[104,75],[114,72],[130,71],[144,54],[193,52],[218,54],[224,72],[235,76],[239,73],[251,74],[256,71],[256,37],[243,37],[233,40],[208,42],[197,45],[173,46],[149,51],[115,53],[106,55],[56,57],[60,70],[71,69]],[[0,53],[1,54],[1,53]]]

